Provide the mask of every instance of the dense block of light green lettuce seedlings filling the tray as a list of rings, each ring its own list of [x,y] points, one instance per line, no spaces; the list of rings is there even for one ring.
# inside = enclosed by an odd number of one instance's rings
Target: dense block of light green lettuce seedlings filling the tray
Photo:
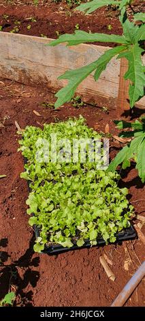
[[[86,126],[82,117],[46,124],[44,130],[27,126],[22,133],[20,150],[27,164],[21,177],[31,180],[27,213],[33,216],[29,224],[35,224],[40,231],[35,251],[56,243],[68,248],[74,244],[81,247],[86,239],[96,245],[100,237],[106,243],[115,242],[116,233],[129,227],[133,213],[126,199],[127,189],[118,188],[117,173],[97,169],[101,164],[99,158],[94,163],[86,159],[83,164],[37,163],[35,143],[39,137],[50,141],[52,132],[57,132],[58,139],[67,137],[71,145],[74,138],[101,138]]]

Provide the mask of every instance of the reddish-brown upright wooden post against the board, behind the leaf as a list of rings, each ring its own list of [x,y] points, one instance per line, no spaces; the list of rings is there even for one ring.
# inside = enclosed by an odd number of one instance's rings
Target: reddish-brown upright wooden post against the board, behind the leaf
[[[126,58],[120,59],[120,78],[117,98],[117,110],[118,117],[124,113],[124,111],[130,110],[129,105],[129,80],[125,80],[124,76],[128,70],[128,61]]]

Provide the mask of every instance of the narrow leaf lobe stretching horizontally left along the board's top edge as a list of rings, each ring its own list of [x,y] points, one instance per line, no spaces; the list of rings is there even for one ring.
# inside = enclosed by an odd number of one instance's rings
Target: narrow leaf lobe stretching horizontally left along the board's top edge
[[[67,42],[68,46],[76,46],[77,44],[86,42],[116,42],[116,44],[129,44],[129,41],[125,36],[108,35],[106,33],[88,33],[86,31],[76,30],[73,34],[65,33],[65,35],[59,36],[58,39],[46,44],[46,46],[56,46],[63,42]]]

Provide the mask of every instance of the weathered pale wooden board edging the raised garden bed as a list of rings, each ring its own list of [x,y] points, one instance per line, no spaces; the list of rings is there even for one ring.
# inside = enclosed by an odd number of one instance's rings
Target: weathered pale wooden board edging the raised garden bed
[[[80,68],[91,63],[108,47],[80,44],[66,47],[45,46],[51,39],[0,32],[0,77],[21,83],[46,84],[52,92],[63,87],[67,81],[57,77],[65,70]],[[145,62],[145,59],[144,59]],[[89,101],[103,98],[117,98],[120,61],[112,59],[99,81],[93,75],[78,87],[78,93]],[[145,107],[145,97],[138,103]]]

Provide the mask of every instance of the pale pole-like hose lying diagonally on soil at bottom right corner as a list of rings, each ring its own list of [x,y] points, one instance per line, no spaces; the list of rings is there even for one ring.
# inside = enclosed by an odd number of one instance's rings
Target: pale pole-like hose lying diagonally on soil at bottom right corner
[[[125,285],[125,288],[123,288],[120,294],[118,294],[118,296],[112,303],[111,307],[123,307],[123,305],[128,300],[131,293],[135,290],[135,288],[138,286],[138,284],[144,277],[144,275],[145,275],[145,261],[138,268],[138,270],[135,272],[133,277],[131,277],[129,282]]]

